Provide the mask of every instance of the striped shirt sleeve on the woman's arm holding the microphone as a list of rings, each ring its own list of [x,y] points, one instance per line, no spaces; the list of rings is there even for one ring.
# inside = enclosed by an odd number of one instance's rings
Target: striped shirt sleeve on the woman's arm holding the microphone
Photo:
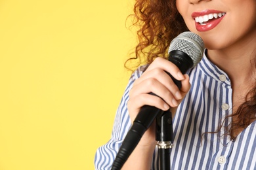
[[[127,102],[129,101],[129,91],[133,87],[133,83],[135,82],[135,80],[142,75],[143,68],[144,66],[139,67],[139,69],[137,69],[129,79],[129,83],[127,85],[127,88],[125,88],[125,92],[123,94],[123,97],[121,98],[121,102],[116,112],[116,118],[114,120],[114,126],[112,129],[110,141],[100,146],[96,150],[96,170],[111,169],[112,163],[116,158],[116,154],[121,144],[123,143],[123,139],[129,131],[129,128],[131,127],[131,120],[127,109]]]

